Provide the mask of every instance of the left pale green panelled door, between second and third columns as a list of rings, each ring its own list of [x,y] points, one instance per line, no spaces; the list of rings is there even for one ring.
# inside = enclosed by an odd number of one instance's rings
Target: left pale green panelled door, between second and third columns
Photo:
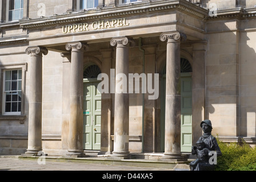
[[[99,82],[83,84],[83,148],[101,150],[101,93]]]

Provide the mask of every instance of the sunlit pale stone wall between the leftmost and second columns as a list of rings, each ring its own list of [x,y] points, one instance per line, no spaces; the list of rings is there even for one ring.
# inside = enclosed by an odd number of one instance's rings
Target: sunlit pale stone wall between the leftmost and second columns
[[[49,155],[62,148],[62,64],[59,52],[43,57],[42,139]]]

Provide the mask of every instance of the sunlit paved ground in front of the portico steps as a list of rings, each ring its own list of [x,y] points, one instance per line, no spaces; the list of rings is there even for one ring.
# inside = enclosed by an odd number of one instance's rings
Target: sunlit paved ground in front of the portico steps
[[[44,162],[0,157],[0,171],[170,171],[170,169],[72,162]]]

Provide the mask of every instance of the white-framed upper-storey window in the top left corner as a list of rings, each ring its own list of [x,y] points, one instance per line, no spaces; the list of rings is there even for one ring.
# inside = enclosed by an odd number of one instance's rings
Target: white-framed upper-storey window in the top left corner
[[[22,19],[23,0],[9,0],[9,22]]]

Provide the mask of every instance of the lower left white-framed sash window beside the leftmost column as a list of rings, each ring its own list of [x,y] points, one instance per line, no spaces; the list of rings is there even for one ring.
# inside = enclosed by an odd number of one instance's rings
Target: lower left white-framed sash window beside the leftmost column
[[[3,71],[3,114],[21,114],[22,69]]]

